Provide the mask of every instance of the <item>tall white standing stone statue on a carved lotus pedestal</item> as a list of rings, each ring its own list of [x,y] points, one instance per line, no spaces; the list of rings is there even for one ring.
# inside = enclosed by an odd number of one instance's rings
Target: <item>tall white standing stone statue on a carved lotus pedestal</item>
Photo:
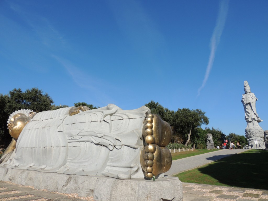
[[[245,120],[247,121],[245,135],[248,139],[248,145],[246,145],[245,148],[265,149],[265,143],[263,141],[264,132],[259,126],[259,122],[263,120],[260,119],[256,111],[256,101],[258,99],[254,93],[251,93],[247,81],[244,81],[244,91],[245,94],[242,95],[241,102],[244,106]]]

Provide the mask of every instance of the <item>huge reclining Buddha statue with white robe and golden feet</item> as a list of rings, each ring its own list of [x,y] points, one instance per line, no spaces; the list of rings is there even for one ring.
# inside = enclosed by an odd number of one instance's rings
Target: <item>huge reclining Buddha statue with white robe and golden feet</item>
[[[118,179],[161,178],[171,167],[171,127],[146,106],[18,110],[8,129],[0,167]]]

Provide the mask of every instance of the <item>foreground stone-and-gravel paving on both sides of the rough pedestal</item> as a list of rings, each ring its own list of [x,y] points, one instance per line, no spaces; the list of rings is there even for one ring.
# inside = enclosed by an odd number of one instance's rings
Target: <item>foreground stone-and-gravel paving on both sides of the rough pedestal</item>
[[[214,186],[207,184],[183,184],[183,201],[268,201],[268,190]],[[89,198],[89,197],[88,197]],[[0,200],[7,201],[85,201],[91,199],[70,198],[22,185],[0,181]]]

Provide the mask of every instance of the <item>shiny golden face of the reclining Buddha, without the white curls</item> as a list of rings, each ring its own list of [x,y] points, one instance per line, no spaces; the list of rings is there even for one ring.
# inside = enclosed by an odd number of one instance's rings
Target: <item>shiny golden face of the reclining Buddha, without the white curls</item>
[[[27,117],[23,113],[15,114],[11,119],[10,123],[8,124],[8,131],[9,134],[14,138],[18,139],[21,131],[25,127],[25,125],[31,120],[31,117]]]

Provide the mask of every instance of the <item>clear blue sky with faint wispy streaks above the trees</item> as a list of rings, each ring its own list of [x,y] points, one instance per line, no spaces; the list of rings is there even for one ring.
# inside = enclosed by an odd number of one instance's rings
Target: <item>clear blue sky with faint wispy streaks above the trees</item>
[[[151,100],[244,135],[247,80],[268,130],[268,1],[0,1],[0,93],[56,105]],[[204,128],[205,126],[203,126]]]

